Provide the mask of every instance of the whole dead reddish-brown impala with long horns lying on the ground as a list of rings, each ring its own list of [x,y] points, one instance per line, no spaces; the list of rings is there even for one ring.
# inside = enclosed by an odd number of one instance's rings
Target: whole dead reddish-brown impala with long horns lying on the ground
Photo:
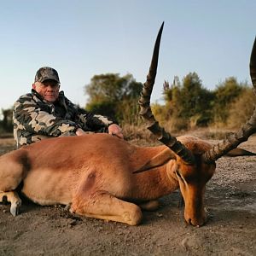
[[[0,199],[7,198],[14,216],[21,205],[15,189],[23,182],[22,193],[42,206],[70,205],[70,211],[80,215],[131,225],[142,221],[141,209],[157,207],[158,198],[179,188],[186,221],[206,222],[204,192],[215,161],[256,131],[256,108],[240,131],[215,146],[196,137],[172,137],[161,128],[149,104],[162,29],[163,25],[139,104],[148,129],[164,145],[138,147],[108,134],[88,134],[51,138],[4,154],[0,157]],[[255,41],[250,73],[256,88]]]

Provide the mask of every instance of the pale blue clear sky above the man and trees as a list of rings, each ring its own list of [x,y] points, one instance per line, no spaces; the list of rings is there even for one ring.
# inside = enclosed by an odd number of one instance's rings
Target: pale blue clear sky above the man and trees
[[[39,67],[54,67],[61,90],[84,107],[96,74],[131,73],[144,83],[165,27],[152,102],[163,82],[196,72],[214,90],[230,76],[248,81],[255,0],[0,0],[0,109],[31,91]]]

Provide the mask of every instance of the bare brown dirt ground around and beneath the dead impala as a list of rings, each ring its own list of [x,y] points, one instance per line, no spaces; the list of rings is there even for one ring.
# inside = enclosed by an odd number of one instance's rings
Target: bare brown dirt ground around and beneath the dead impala
[[[256,152],[256,136],[242,148]],[[0,154],[15,148],[0,140]],[[143,223],[128,226],[74,216],[64,207],[23,200],[20,215],[0,204],[0,255],[256,255],[256,156],[222,158],[207,184],[211,217],[185,224],[179,193],[160,200]]]

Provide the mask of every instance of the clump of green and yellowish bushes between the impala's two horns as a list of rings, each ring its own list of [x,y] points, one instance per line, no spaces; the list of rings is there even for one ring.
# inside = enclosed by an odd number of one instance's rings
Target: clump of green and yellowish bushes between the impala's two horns
[[[162,114],[174,131],[210,124],[237,128],[253,113],[255,102],[247,83],[230,77],[209,91],[202,87],[196,73],[186,75],[182,83],[177,77],[171,86],[165,82],[164,96],[166,110]]]

